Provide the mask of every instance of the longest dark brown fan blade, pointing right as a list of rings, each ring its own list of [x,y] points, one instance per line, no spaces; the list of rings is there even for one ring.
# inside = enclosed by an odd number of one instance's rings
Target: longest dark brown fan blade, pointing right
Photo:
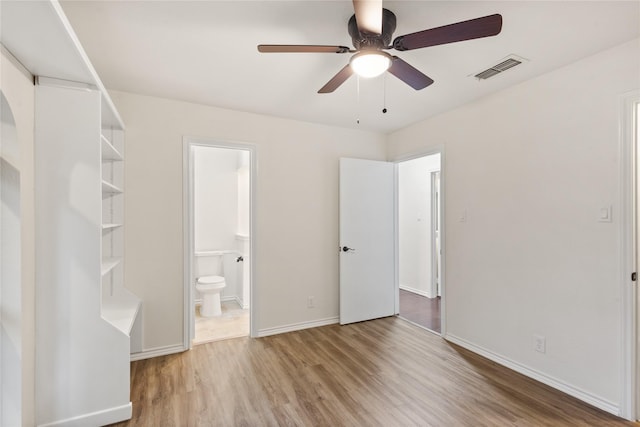
[[[478,39],[495,36],[501,29],[502,15],[494,14],[396,37],[393,48],[403,51]]]

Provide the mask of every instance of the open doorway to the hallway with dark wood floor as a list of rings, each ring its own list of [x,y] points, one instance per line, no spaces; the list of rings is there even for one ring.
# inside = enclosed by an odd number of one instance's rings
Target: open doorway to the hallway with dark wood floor
[[[401,318],[442,333],[441,154],[397,163]]]

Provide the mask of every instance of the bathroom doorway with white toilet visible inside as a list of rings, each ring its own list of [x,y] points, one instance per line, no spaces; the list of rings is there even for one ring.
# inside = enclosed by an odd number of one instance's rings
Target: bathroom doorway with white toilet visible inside
[[[185,347],[251,335],[254,147],[185,138]],[[215,284],[213,284],[215,283]]]

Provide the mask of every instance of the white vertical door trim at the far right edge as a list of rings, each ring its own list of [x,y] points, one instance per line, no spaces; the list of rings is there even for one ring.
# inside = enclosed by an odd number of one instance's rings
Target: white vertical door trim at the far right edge
[[[638,290],[630,275],[637,271],[637,147],[634,135],[634,109],[640,103],[640,91],[624,94],[620,99],[620,273],[621,286],[621,391],[620,416],[629,420],[640,417],[638,400]]]

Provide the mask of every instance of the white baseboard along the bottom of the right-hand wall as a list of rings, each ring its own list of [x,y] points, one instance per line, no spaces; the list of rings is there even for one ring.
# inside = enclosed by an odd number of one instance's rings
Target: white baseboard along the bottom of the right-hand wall
[[[539,381],[543,384],[553,387],[556,390],[560,390],[561,392],[566,393],[570,396],[573,396],[576,399],[580,399],[583,402],[588,403],[589,405],[595,406],[596,408],[602,409],[603,411],[609,412],[613,415],[620,416],[620,407],[613,402],[610,402],[594,394],[581,390],[577,387],[572,386],[571,384],[568,384],[562,380],[559,380],[557,378],[544,374],[540,371],[531,369],[528,366],[525,366],[521,363],[510,360],[497,353],[494,353],[483,347],[475,345],[467,340],[458,338],[455,335],[447,334],[444,338],[449,342],[457,344],[460,347],[464,347],[469,351],[472,351],[483,357],[486,357],[487,359],[493,362],[496,362],[502,366],[505,366],[513,371],[521,373],[522,375],[525,375],[529,378],[533,378],[536,381]]]

